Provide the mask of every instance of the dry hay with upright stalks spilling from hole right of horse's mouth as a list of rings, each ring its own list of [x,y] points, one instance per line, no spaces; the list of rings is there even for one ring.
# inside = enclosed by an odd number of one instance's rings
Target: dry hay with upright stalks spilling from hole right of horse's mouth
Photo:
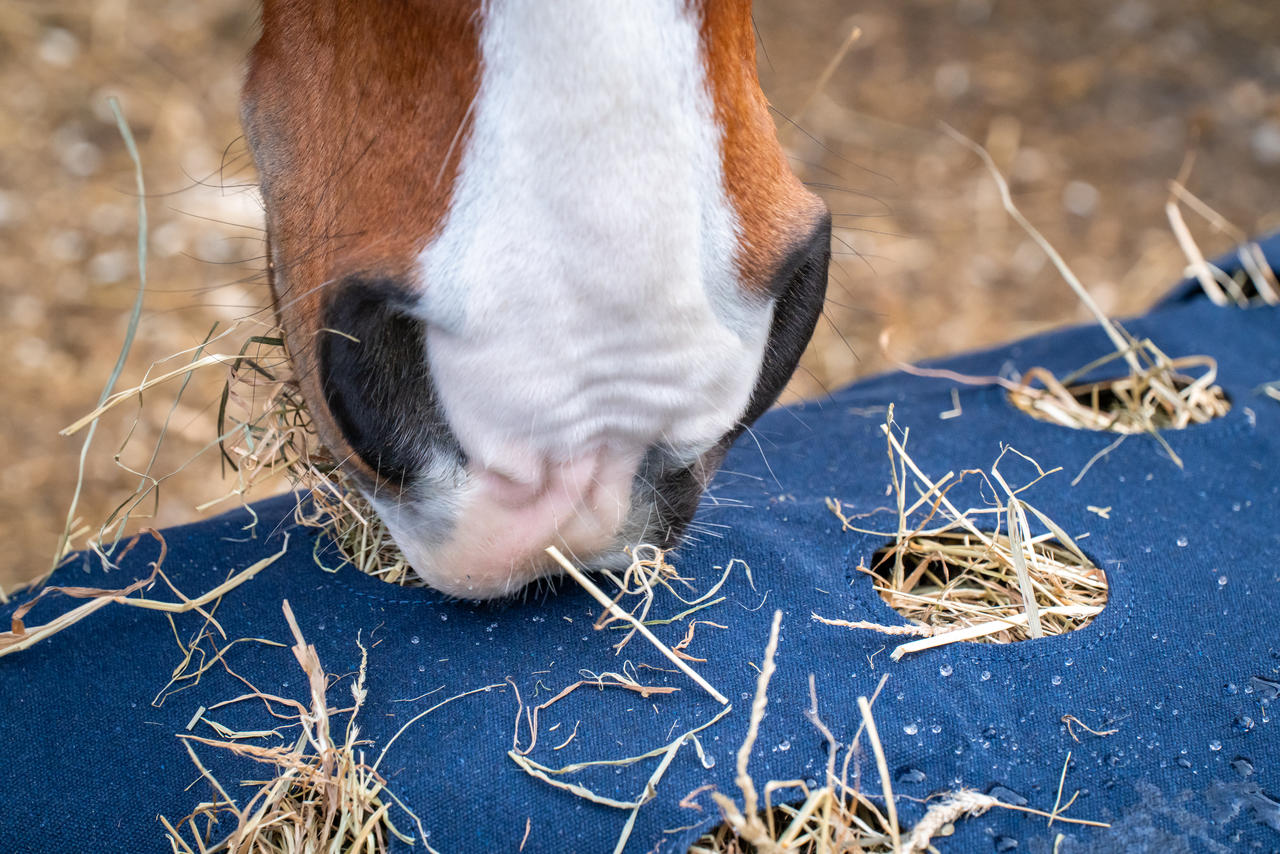
[[[908,452],[909,430],[899,428],[890,407],[884,424],[896,516],[893,530],[865,528],[863,520],[886,512],[851,515],[836,499],[827,506],[844,530],[891,538],[870,567],[877,593],[910,624],[884,626],[813,615],[814,620],[849,629],[870,629],[919,640],[893,650],[893,658],[957,640],[1010,643],[1064,634],[1088,625],[1102,612],[1107,583],[1102,570],[1075,540],[1021,493],[1043,478],[1036,461],[1005,448],[988,472],[966,470],[929,478]],[[1012,455],[1034,466],[1037,476],[1011,487],[1000,471]],[[966,478],[983,480],[984,494],[998,502],[959,507],[950,497]],[[1032,535],[1029,519],[1044,528]],[[989,520],[989,521],[988,521]]]

